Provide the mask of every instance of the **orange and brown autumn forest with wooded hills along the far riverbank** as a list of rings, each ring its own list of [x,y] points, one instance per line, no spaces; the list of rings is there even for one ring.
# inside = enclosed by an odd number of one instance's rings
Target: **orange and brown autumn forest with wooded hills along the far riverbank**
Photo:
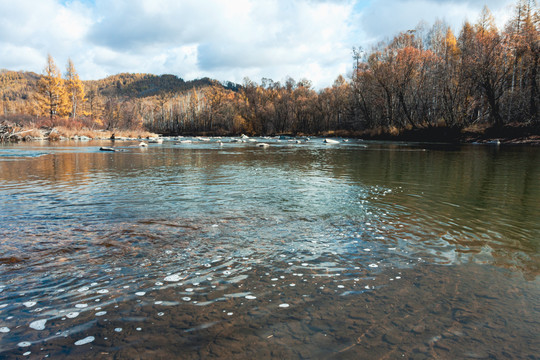
[[[242,84],[174,75],[82,81],[49,55],[42,74],[0,72],[0,121],[35,127],[165,134],[376,136],[417,129],[536,128],[540,13],[519,0],[498,29],[489,9],[454,32],[419,24],[352,50],[351,74],[316,90],[307,79]]]

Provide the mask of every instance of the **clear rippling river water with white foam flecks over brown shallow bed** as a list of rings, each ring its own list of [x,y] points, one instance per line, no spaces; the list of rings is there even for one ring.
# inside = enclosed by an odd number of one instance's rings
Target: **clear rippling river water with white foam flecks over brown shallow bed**
[[[0,355],[538,358],[539,149],[265,142],[0,147]]]

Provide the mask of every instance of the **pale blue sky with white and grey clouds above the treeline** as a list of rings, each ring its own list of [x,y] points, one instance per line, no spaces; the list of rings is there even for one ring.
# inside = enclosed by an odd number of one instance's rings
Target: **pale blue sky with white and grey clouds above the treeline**
[[[0,0],[0,69],[42,73],[51,54],[81,79],[122,72],[331,86],[370,49],[421,21],[456,33],[487,5],[502,27],[514,0]]]

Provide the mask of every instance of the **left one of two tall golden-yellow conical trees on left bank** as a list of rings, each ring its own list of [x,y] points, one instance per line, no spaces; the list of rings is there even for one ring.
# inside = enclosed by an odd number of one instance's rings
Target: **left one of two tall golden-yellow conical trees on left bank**
[[[38,104],[40,112],[50,116],[65,116],[69,111],[69,99],[64,88],[64,80],[60,70],[49,54],[43,76],[38,82]]]

